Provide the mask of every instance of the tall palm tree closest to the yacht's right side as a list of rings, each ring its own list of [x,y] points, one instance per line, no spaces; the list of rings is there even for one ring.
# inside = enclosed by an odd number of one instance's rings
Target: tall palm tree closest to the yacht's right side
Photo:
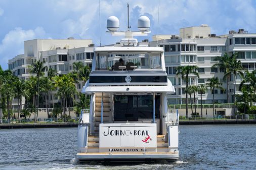
[[[197,66],[179,66],[176,70],[176,75],[181,76],[182,79],[186,81],[186,89],[188,89],[189,74],[196,75],[199,78],[197,73]],[[186,116],[188,117],[188,93],[186,93]]]

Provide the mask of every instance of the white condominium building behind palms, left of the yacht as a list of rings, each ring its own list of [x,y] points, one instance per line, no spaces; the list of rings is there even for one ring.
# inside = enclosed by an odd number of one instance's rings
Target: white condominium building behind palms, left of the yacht
[[[56,70],[58,75],[67,74],[73,71],[74,62],[92,65],[94,56],[94,45],[92,43],[90,39],[74,39],[72,37],[68,39],[34,39],[24,41],[24,54],[17,55],[9,60],[8,67],[13,72],[13,75],[23,80],[31,76],[28,66],[37,60],[45,62],[45,76],[47,76],[50,68]],[[83,84],[79,82],[76,86],[77,90],[81,91]],[[45,99],[50,97],[50,107],[52,106],[52,100],[55,103],[58,102],[56,93],[57,91],[54,91],[53,98],[51,96],[44,96]],[[75,97],[78,98],[77,95]],[[22,107],[24,103],[25,100],[22,98]],[[14,98],[13,108],[17,107],[17,98]],[[40,103],[39,107],[46,107],[46,104]]]

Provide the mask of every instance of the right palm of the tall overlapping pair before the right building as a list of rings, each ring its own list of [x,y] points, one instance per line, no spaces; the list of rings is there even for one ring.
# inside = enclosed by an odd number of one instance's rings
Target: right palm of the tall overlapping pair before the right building
[[[235,102],[236,102],[236,78],[237,78],[237,75],[243,78],[243,70],[244,70],[242,67],[241,61],[236,60],[237,55],[238,55],[237,52],[233,54],[232,60],[230,61],[230,68],[228,72],[224,75],[224,76],[227,76],[228,74],[231,74],[231,73],[234,75],[234,109],[233,109],[234,114],[235,114]]]

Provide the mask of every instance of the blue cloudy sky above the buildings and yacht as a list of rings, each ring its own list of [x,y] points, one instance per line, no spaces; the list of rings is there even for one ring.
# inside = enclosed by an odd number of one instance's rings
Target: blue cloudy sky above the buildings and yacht
[[[151,33],[138,40],[178,35],[180,28],[201,24],[208,24],[217,35],[241,28],[256,33],[253,0],[159,0],[159,20],[158,0],[0,0],[0,65],[7,69],[8,60],[23,54],[24,41],[30,39],[74,37],[92,39],[96,45],[100,40],[102,45],[115,43],[118,37],[106,33],[107,18],[116,16],[119,30],[126,30],[127,3],[131,30],[137,30],[140,16],[150,19]]]

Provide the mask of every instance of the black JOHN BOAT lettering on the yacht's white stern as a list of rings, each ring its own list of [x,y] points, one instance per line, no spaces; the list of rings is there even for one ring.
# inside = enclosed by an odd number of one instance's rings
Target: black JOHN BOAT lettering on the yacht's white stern
[[[108,132],[103,133],[104,136],[147,136],[148,131],[145,130],[110,130],[110,127],[108,127]]]

